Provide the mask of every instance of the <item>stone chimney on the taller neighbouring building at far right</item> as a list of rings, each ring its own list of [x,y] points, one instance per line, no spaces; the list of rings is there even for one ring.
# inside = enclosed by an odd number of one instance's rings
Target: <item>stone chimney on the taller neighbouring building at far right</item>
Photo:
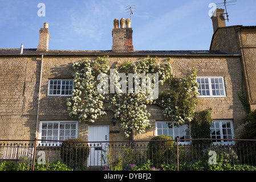
[[[217,8],[211,19],[213,21],[213,32],[216,32],[219,27],[226,27],[224,9]]]

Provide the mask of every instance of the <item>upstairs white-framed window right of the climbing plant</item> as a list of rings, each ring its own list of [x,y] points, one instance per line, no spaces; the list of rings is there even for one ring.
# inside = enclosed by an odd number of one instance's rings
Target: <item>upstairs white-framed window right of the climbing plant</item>
[[[199,97],[226,97],[224,77],[197,77]]]

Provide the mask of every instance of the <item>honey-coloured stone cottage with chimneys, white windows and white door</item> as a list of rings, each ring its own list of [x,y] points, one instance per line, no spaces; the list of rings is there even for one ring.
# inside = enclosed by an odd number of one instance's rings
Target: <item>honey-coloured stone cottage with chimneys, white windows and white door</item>
[[[212,108],[212,137],[232,139],[235,128],[246,118],[238,98],[244,90],[250,109],[256,109],[256,27],[229,26],[222,18],[224,10],[212,16],[214,34],[209,50],[139,51],[133,49],[133,30],[129,19],[114,20],[112,49],[107,51],[49,50],[48,23],[40,28],[38,48],[0,49],[0,139],[84,138],[89,141],[124,140],[124,133],[113,112],[95,123],[70,118],[67,98],[73,89],[72,62],[84,58],[109,56],[109,64],[138,61],[147,56],[158,60],[171,58],[173,72],[184,76],[197,70],[200,84],[198,110]],[[120,26],[119,26],[120,22]],[[189,139],[189,124],[168,129],[168,119],[160,107],[149,106],[152,127],[135,139],[170,135]]]

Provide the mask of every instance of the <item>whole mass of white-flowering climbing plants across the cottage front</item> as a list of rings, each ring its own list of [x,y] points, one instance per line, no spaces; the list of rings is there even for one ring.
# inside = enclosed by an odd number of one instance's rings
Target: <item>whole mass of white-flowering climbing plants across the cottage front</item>
[[[159,105],[164,117],[178,124],[190,122],[193,118],[198,96],[196,71],[186,78],[177,78],[173,75],[170,59],[161,65],[151,57],[136,63],[127,61],[120,68],[115,65],[111,72],[107,57],[97,57],[96,60],[84,59],[73,63],[73,68],[76,71],[74,90],[72,97],[67,100],[67,107],[70,117],[78,117],[79,121],[95,122],[107,114],[109,108],[104,107],[104,102],[110,104],[115,117],[120,119],[125,137],[145,133],[145,129],[150,127],[151,114],[147,105]],[[99,78],[102,73],[104,77]],[[120,85],[119,73],[124,73],[122,81],[125,85]],[[139,78],[141,76],[145,76],[145,82]],[[108,89],[113,86],[108,81],[111,77],[114,78],[114,89],[117,88],[114,93],[109,93]],[[106,78],[107,82],[104,80]],[[99,82],[104,92],[97,90]],[[129,83],[132,83],[132,88]],[[165,89],[156,98],[152,95],[156,93],[158,84],[164,85]]]

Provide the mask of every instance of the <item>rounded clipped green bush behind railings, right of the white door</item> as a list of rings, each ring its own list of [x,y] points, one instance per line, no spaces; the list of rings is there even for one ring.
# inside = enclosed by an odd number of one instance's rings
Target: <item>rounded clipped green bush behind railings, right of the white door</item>
[[[159,135],[153,137],[149,142],[148,157],[152,160],[153,165],[159,167],[166,159],[169,161],[176,160],[175,141],[158,141],[154,140],[173,140],[172,137]]]

